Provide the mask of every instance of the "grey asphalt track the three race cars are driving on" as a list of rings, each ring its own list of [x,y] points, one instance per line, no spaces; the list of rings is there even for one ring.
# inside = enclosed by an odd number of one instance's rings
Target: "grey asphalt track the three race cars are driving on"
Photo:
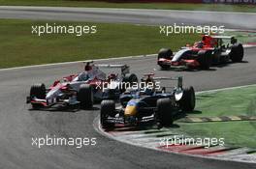
[[[3,11],[0,10],[0,17]],[[8,15],[8,14],[7,14]],[[12,16],[12,14],[10,14]],[[41,14],[39,14],[41,15]],[[38,16],[39,16],[38,15]],[[19,15],[20,17],[20,15]],[[21,16],[22,17],[22,16]],[[37,16],[35,16],[37,17]],[[23,17],[22,17],[23,18]],[[24,18],[27,18],[24,15]],[[255,24],[255,23],[251,23]],[[131,71],[142,76],[154,71],[156,75],[183,75],[185,86],[197,91],[256,82],[255,48],[245,49],[244,62],[213,67],[199,71],[164,71],[156,65],[156,57],[143,57],[101,61],[100,63],[127,64]],[[255,164],[216,161],[185,155],[173,155],[116,142],[99,134],[93,121],[99,115],[99,105],[94,110],[31,111],[25,104],[31,84],[49,85],[63,75],[82,70],[82,64],[68,64],[20,70],[0,70],[0,168],[255,168]],[[96,137],[96,146],[43,147],[31,145],[32,137]]]

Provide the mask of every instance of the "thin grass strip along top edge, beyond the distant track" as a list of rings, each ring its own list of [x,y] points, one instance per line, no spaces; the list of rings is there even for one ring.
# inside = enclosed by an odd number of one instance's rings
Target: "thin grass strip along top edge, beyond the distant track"
[[[255,13],[254,5],[223,5],[193,3],[108,3],[91,0],[0,0],[0,5],[12,6],[55,6],[55,7],[88,7],[88,8],[124,8],[124,9],[163,9],[188,11],[217,11]]]

